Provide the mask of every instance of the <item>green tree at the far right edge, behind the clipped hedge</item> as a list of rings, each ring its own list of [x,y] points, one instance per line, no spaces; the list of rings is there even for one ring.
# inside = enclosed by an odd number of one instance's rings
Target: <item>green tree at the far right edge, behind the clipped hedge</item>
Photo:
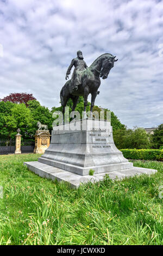
[[[163,146],[163,124],[160,124],[152,135],[152,147],[159,149]]]

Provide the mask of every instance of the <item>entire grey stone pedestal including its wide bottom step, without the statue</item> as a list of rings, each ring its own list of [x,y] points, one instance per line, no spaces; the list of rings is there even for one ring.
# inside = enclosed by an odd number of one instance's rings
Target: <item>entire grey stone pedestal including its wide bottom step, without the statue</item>
[[[53,127],[51,144],[45,153],[38,162],[25,164],[40,176],[68,181],[75,187],[80,182],[101,180],[105,174],[125,178],[156,172],[133,167],[116,148],[110,122],[90,119]]]

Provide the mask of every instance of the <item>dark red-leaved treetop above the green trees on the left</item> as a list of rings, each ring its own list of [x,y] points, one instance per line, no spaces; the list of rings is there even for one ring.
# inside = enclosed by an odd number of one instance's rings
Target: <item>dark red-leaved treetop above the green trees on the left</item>
[[[27,102],[29,100],[36,100],[33,94],[29,93],[10,93],[9,96],[4,97],[1,101],[11,101],[13,103],[25,103],[26,106],[28,105]]]

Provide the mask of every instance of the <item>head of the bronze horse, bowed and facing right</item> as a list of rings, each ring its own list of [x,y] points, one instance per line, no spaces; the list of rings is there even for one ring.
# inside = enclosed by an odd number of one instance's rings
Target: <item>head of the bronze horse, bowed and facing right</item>
[[[110,70],[114,66],[114,62],[117,62],[118,59],[115,59],[115,57],[116,56],[109,56],[103,60],[102,70],[100,74],[100,77],[102,77],[103,79],[106,79],[108,77]]]

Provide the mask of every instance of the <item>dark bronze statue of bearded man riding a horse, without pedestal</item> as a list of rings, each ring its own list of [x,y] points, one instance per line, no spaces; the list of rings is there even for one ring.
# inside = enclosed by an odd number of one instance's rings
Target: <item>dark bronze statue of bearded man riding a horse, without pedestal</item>
[[[104,53],[99,56],[89,67],[83,60],[82,51],[77,52],[77,58],[72,59],[70,66],[66,72],[66,80],[70,75],[71,69],[74,66],[74,71],[70,80],[68,80],[62,87],[60,92],[61,105],[63,107],[62,113],[65,113],[65,106],[69,99],[73,101],[72,111],[75,110],[79,96],[84,97],[84,114],[86,116],[87,97],[91,94],[91,113],[95,104],[95,99],[98,88],[101,84],[100,77],[106,79],[114,63],[115,59],[110,53]]]

